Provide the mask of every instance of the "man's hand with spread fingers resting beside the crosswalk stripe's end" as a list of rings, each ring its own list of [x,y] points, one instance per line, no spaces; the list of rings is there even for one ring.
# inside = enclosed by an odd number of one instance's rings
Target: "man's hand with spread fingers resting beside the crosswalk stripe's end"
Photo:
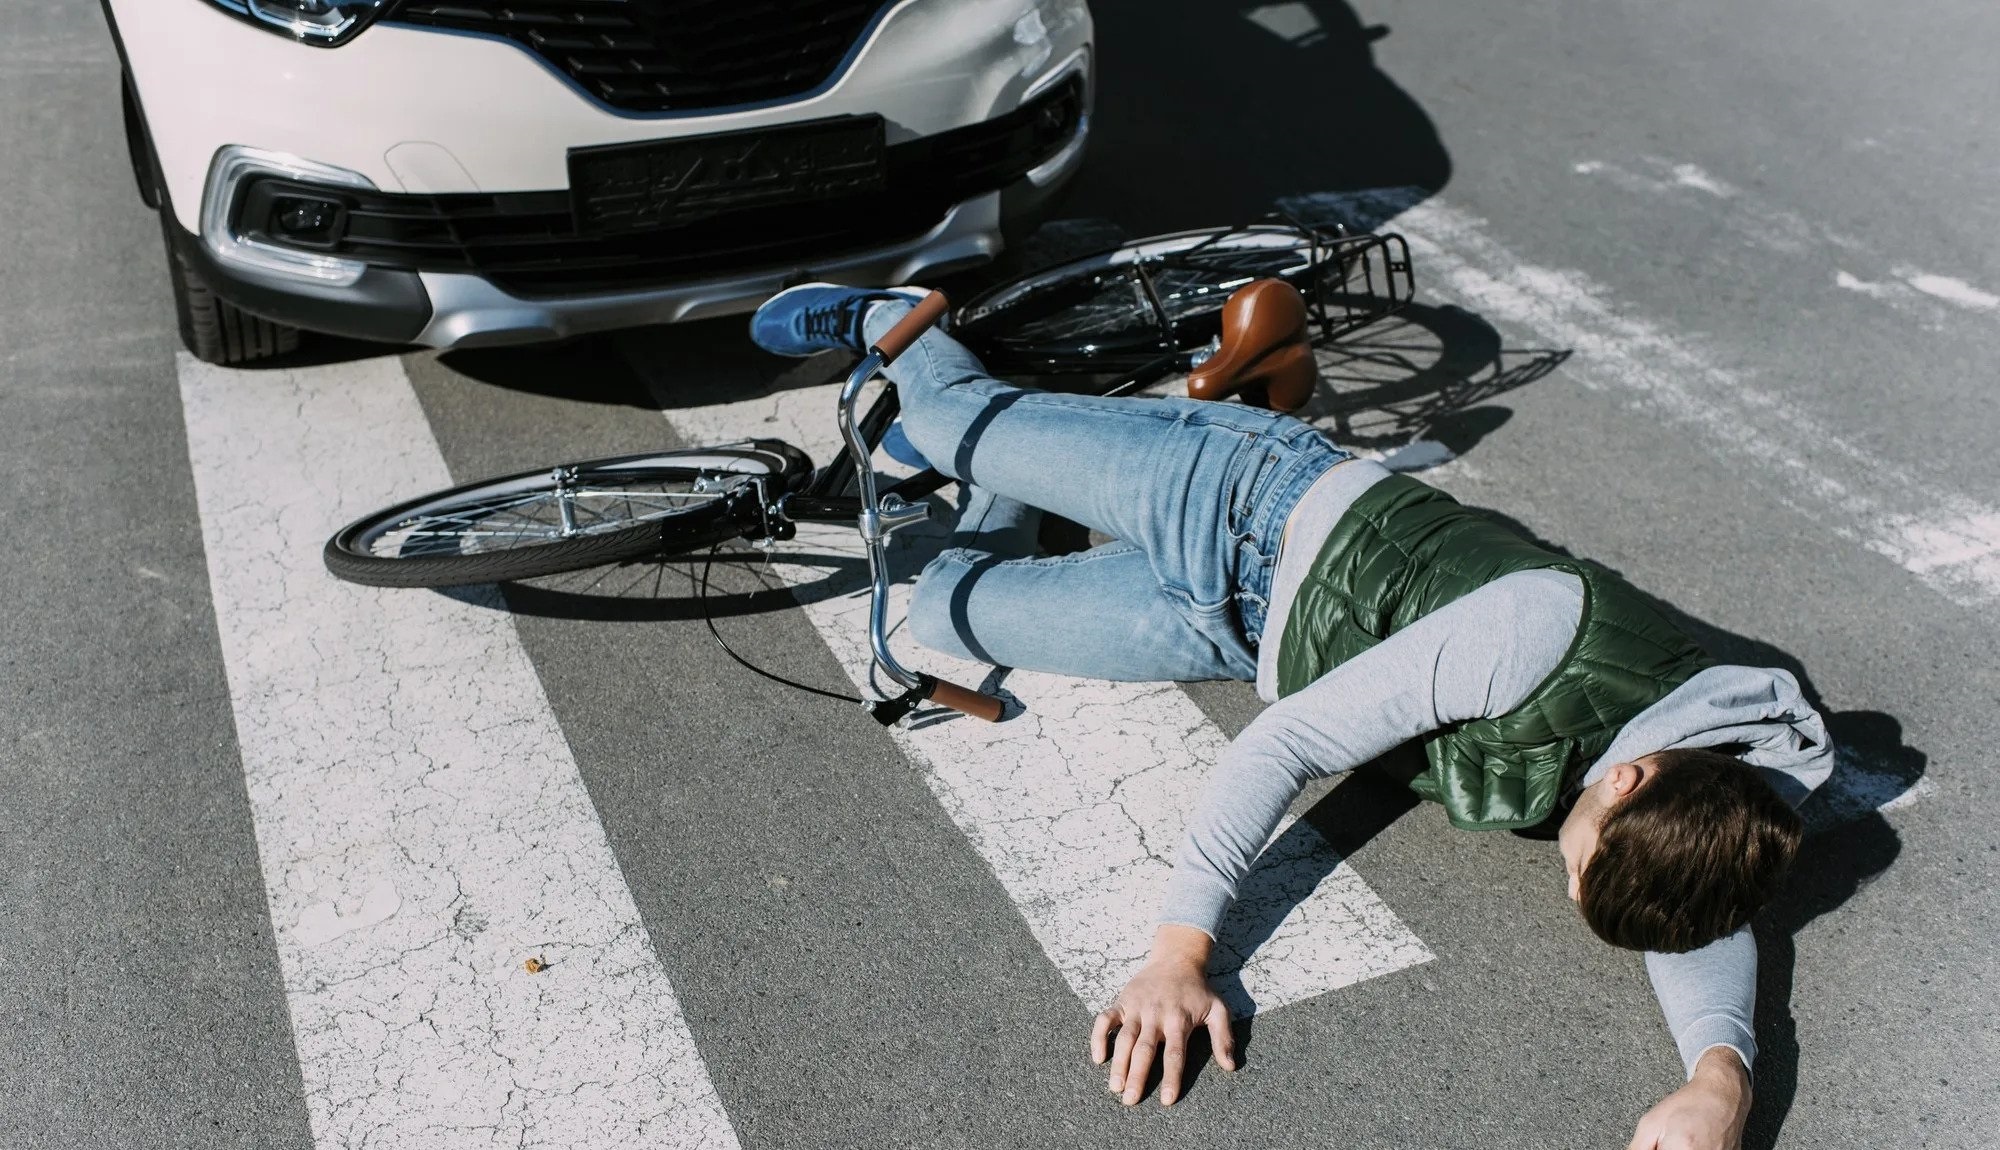
[[[1208,1044],[1224,1070],[1236,1070],[1230,1038],[1230,1008],[1208,988],[1208,936],[1192,926],[1162,926],[1152,936],[1152,958],[1126,982],[1090,1028],[1090,1060],[1112,1062],[1110,1088],[1132,1106],[1146,1092],[1146,1074],[1160,1058],[1160,1104],[1180,1098],[1180,1074],[1188,1066],[1188,1036],[1208,1028]],[[1106,1050],[1112,1030],[1116,1048]]]

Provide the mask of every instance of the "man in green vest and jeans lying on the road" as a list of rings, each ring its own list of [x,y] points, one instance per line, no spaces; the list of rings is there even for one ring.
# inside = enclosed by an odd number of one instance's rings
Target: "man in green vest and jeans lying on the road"
[[[860,352],[914,292],[804,286],[752,320],[766,350]],[[1190,392],[1288,410],[1316,380],[1304,306],[1242,288]],[[1254,680],[1272,706],[1188,818],[1146,966],[1090,1050],[1134,1104],[1180,1094],[1188,1036],[1234,1068],[1204,978],[1224,910],[1306,782],[1422,740],[1414,788],[1466,830],[1558,834],[1568,894],[1646,968],[1688,1068],[1632,1146],[1732,1148],[1750,1110],[1750,916],[1832,770],[1784,670],[1722,666],[1604,568],[1550,552],[1310,424],[1194,398],[1034,392],[942,332],[888,370],[910,446],[962,482],[956,532],[910,602],[918,642],[1112,680]],[[1116,542],[1038,556],[1052,512]],[[1116,1040],[1112,1040],[1116,1034]]]

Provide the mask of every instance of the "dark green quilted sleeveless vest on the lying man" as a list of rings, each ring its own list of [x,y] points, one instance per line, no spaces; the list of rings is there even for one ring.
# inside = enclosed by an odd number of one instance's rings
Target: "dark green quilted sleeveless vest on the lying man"
[[[1452,826],[1506,830],[1548,818],[1626,722],[1710,660],[1612,572],[1540,548],[1408,476],[1366,492],[1334,526],[1278,640],[1278,694],[1304,688],[1418,618],[1492,580],[1554,568],[1584,584],[1570,652],[1514,710],[1424,740],[1410,786]]]

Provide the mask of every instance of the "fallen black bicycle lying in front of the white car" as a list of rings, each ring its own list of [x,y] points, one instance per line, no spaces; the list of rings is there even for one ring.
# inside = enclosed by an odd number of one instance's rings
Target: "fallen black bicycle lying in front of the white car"
[[[1400,310],[1416,286],[1408,244],[1396,234],[1270,216],[1132,240],[1002,282],[956,312],[932,292],[848,372],[836,410],[844,446],[826,466],[782,440],[570,462],[382,508],[338,530],[324,562],[348,582],[440,588],[688,554],[730,540],[768,548],[794,538],[798,524],[850,524],[868,552],[870,652],[904,688],[864,700],[868,712],[888,726],[932,702],[992,722],[1002,700],[912,672],[890,650],[884,542],[926,520],[926,496],[954,480],[922,470],[878,490],[870,460],[900,408],[884,380],[856,414],[862,390],[950,316],[952,334],[994,374],[1078,378],[1092,394],[1134,394],[1212,354],[1222,304],[1260,278],[1300,290],[1318,344]]]

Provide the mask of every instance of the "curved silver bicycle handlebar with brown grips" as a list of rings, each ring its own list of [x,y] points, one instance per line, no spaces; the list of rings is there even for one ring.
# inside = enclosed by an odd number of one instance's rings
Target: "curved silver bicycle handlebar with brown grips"
[[[904,688],[904,692],[894,698],[878,698],[868,704],[868,714],[872,714],[882,726],[900,722],[922,702],[948,706],[956,712],[970,714],[972,718],[984,718],[986,722],[996,722],[1002,712],[998,698],[966,690],[930,674],[908,670],[896,662],[896,652],[888,648],[888,536],[898,528],[930,518],[930,504],[912,504],[896,492],[882,496],[876,494],[876,474],[870,464],[874,450],[862,438],[862,430],[854,418],[854,404],[860,398],[862,388],[866,388],[868,382],[882,372],[882,368],[896,362],[896,356],[900,356],[910,344],[916,342],[918,336],[936,324],[950,310],[950,306],[952,304],[944,298],[944,292],[924,296],[924,300],[916,304],[916,310],[904,316],[902,322],[890,328],[872,348],[868,348],[862,362],[854,364],[854,370],[848,372],[846,386],[840,388],[840,436],[848,442],[848,454],[854,456],[854,478],[860,484],[862,502],[856,526],[860,528],[862,542],[868,548],[868,650],[874,656],[874,664]]]

